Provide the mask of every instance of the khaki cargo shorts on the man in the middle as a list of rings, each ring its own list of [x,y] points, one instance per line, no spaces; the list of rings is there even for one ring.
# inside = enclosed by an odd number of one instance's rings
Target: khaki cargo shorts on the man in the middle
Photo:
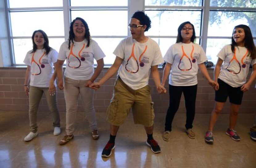
[[[107,121],[112,125],[122,125],[131,108],[135,124],[142,124],[146,127],[154,124],[155,114],[150,86],[133,90],[118,77],[107,109]]]

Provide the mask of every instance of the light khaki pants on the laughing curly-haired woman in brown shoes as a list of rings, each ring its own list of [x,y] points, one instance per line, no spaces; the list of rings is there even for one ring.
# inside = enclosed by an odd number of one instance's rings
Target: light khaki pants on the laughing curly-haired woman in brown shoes
[[[95,110],[93,107],[94,90],[85,87],[88,80],[73,80],[64,77],[64,96],[66,102],[66,133],[72,135],[75,130],[77,100],[80,94],[83,107],[85,109],[89,127],[91,130],[97,129]]]

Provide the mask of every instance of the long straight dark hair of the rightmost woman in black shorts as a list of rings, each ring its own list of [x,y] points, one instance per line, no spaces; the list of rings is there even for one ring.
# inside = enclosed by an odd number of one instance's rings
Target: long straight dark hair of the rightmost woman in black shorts
[[[245,39],[244,39],[245,47],[249,51],[248,55],[250,55],[250,57],[252,59],[255,59],[256,58],[256,47],[255,47],[254,42],[253,42],[253,37],[252,37],[252,32],[251,32],[250,27],[248,27],[246,25],[243,25],[243,24],[240,24],[240,25],[235,26],[233,30],[235,30],[236,28],[244,29],[244,32],[245,32]],[[237,43],[233,39],[233,35],[234,35],[234,31],[232,33],[232,43],[231,43],[231,50],[234,53],[235,52],[235,46],[237,46]]]

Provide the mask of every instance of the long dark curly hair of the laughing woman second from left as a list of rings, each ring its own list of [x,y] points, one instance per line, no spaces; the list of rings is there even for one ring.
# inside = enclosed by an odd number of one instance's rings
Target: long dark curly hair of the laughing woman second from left
[[[89,31],[89,27],[88,24],[85,22],[84,19],[82,18],[75,18],[71,23],[70,23],[70,27],[69,27],[69,38],[68,38],[68,49],[70,49],[70,41],[72,41],[72,43],[74,43],[74,30],[73,30],[73,24],[75,23],[76,20],[81,20],[81,22],[85,25],[85,39],[88,41],[87,43],[87,47],[89,47],[90,45],[90,39],[91,39],[91,35],[90,35],[90,31]]]

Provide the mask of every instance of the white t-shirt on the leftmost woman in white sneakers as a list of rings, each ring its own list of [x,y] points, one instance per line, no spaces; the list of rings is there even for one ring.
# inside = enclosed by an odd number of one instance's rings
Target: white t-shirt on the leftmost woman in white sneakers
[[[24,59],[24,63],[31,66],[30,86],[48,88],[54,73],[53,64],[57,62],[58,52],[51,49],[46,55],[44,49],[30,50]],[[33,58],[33,59],[32,59]],[[54,82],[56,86],[56,82]]]

